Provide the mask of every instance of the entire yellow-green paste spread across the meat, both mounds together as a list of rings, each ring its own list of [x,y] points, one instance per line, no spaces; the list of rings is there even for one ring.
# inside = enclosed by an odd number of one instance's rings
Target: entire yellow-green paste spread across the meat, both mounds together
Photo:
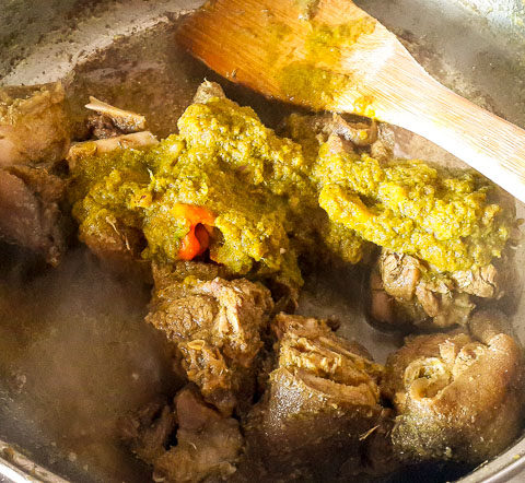
[[[357,263],[369,240],[447,272],[489,263],[509,238],[511,214],[469,173],[332,154],[307,132],[304,144],[281,138],[252,108],[219,97],[190,105],[178,129],[152,148],[75,163],[70,198],[81,237],[117,219],[143,233],[144,259],[174,261],[195,227],[174,207],[201,207],[214,220],[212,260],[298,285],[302,254],[329,250]]]

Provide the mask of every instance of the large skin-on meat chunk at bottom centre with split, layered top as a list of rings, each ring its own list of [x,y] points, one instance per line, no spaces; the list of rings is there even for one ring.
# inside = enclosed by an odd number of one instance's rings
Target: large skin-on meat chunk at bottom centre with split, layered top
[[[378,431],[388,425],[378,402],[382,366],[322,320],[280,315],[272,326],[278,366],[247,419],[248,458],[261,460],[268,480],[331,481],[370,470],[369,451],[378,439],[388,446]],[[372,444],[375,432],[382,436]]]

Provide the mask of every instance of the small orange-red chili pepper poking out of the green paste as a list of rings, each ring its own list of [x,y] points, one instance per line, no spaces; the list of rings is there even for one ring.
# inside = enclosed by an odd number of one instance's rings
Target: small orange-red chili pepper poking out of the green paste
[[[206,208],[177,203],[172,209],[176,217],[184,217],[189,224],[189,232],[180,240],[178,258],[192,260],[202,255],[210,245],[209,228],[214,226],[215,217]]]

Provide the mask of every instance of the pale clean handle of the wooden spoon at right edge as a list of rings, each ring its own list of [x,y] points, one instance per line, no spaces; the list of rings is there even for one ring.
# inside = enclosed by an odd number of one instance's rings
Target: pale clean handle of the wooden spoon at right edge
[[[413,81],[416,81],[413,79]],[[383,120],[427,138],[525,202],[525,130],[425,74]]]

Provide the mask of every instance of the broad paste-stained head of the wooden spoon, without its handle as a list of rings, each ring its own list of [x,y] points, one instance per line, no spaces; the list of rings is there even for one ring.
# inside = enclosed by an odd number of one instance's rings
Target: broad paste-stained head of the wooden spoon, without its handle
[[[217,0],[177,38],[211,69],[267,96],[380,118],[377,73],[393,55],[415,63],[350,0]]]

